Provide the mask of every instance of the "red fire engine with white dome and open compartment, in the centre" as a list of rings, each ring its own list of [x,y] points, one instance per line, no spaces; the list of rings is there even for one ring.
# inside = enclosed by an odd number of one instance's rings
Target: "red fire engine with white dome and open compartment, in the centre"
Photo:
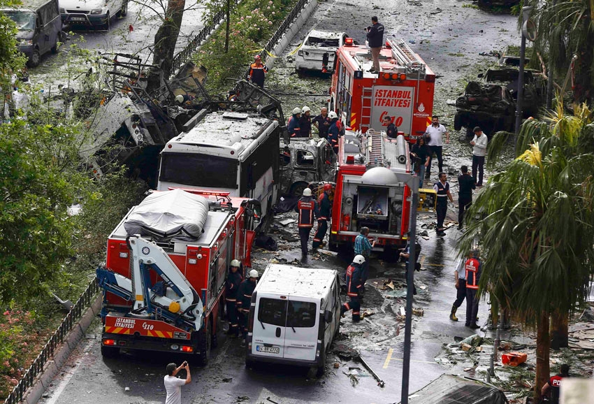
[[[396,173],[410,173],[408,142],[386,132],[347,131],[338,143],[338,172],[330,245],[354,243],[361,227],[376,247],[401,247],[407,239],[411,190]]]

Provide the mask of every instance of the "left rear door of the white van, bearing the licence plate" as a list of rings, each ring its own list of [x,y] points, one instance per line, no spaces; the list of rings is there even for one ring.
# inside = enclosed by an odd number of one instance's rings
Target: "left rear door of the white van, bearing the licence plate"
[[[287,306],[287,296],[260,292],[256,295],[252,329],[253,355],[283,357]]]

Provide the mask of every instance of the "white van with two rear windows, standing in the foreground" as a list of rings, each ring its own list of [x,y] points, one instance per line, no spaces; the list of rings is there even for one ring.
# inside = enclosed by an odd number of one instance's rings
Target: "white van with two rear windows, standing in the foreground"
[[[288,363],[321,376],[340,328],[340,305],[337,271],[268,265],[252,294],[245,366]]]

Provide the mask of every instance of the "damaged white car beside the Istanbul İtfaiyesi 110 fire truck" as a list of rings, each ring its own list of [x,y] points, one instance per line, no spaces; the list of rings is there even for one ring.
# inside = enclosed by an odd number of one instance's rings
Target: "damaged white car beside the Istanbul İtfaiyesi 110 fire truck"
[[[295,57],[295,68],[298,73],[305,70],[332,73],[336,50],[345,44],[345,38],[347,34],[344,32],[312,29],[305,36]]]

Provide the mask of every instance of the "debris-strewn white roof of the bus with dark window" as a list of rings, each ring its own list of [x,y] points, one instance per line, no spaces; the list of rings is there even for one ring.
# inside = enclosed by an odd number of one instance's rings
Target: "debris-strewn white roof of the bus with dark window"
[[[278,122],[258,114],[216,111],[209,113],[189,131],[168,141],[164,152],[205,152],[219,148],[238,155],[254,143],[270,125]],[[268,131],[270,133],[270,131]],[[231,153],[234,154],[234,153]]]

